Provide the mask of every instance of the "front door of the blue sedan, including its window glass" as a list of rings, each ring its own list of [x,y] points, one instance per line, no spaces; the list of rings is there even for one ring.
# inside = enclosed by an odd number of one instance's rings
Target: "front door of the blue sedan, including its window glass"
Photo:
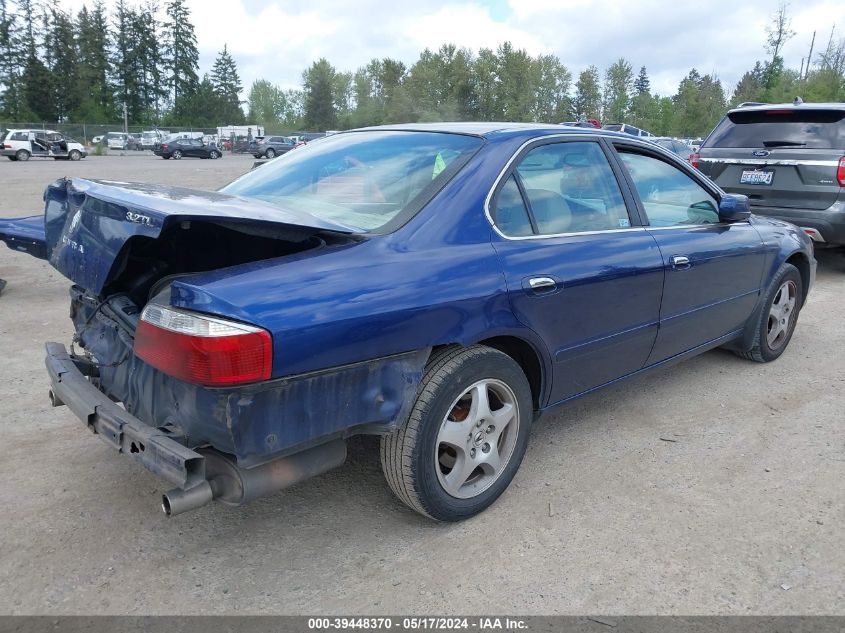
[[[765,247],[719,219],[719,192],[643,147],[615,143],[666,271],[653,364],[741,329],[760,293]]]

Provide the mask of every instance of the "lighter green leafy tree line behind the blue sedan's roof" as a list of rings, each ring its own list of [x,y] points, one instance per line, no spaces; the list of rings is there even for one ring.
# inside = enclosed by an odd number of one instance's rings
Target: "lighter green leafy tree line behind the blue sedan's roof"
[[[831,31],[826,46],[788,68],[784,44],[794,36],[786,5],[767,28],[769,57],[757,61],[732,91],[695,68],[673,95],[652,90],[645,66],[624,57],[604,71],[578,73],[555,55],[532,57],[505,42],[478,53],[454,44],[424,50],[410,66],[373,59],[354,72],[322,58],[302,74],[301,89],[266,79],[249,90],[248,118],[268,129],[347,129],[383,123],[447,120],[543,121],[595,118],[631,123],[654,134],[696,137],[709,132],[726,109],[746,101],[845,101],[845,39]],[[806,63],[805,63],[806,62]]]

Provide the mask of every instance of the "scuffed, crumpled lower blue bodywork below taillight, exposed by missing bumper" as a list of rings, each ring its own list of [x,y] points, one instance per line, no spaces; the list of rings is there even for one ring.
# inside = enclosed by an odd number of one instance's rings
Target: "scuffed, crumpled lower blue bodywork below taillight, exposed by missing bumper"
[[[95,380],[129,413],[214,446],[250,467],[317,439],[387,432],[409,413],[428,349],[252,386],[211,389],[173,380],[131,354],[132,332],[111,307],[71,291],[79,341],[99,363]],[[95,313],[95,310],[96,313]]]

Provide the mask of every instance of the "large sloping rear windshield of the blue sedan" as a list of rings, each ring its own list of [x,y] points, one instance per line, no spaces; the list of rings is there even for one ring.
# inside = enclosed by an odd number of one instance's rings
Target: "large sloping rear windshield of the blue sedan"
[[[287,152],[221,191],[376,231],[419,209],[482,143],[439,132],[335,134]]]

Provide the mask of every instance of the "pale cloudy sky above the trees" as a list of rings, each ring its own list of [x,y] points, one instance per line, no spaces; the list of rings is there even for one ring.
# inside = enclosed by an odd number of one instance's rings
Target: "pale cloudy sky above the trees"
[[[84,0],[59,0],[78,10]],[[90,2],[89,2],[90,4]],[[111,8],[113,0],[106,0]],[[129,4],[135,4],[129,0]],[[619,57],[646,66],[652,89],[674,94],[693,67],[731,90],[766,58],[765,27],[778,0],[188,0],[200,50],[200,75],[226,43],[245,91],[264,78],[298,87],[302,71],[326,57],[354,71],[373,57],[412,64],[425,47],[455,43],[478,51],[510,40],[532,55],[554,53],[573,74]],[[836,25],[845,37],[845,1],[793,0],[796,32],[786,65],[801,65],[813,31],[818,51]]]

